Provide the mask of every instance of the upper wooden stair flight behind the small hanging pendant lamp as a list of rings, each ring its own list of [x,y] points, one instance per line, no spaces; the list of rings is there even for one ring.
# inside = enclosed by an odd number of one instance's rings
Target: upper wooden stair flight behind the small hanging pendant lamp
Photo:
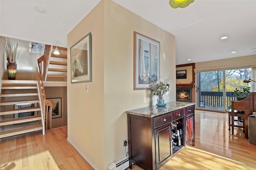
[[[56,46],[52,48],[55,49]],[[67,48],[58,47],[58,49],[60,51],[59,55],[51,53],[49,57],[45,81],[67,81]]]

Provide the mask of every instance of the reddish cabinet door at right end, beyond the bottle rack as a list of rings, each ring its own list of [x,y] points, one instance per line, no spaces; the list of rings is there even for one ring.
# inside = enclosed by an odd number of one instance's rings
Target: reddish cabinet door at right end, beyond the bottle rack
[[[194,114],[185,117],[185,142],[194,146]]]

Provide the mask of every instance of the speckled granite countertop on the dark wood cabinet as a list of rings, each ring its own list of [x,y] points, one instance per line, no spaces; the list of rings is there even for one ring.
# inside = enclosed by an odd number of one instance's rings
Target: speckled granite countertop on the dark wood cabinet
[[[164,113],[182,109],[184,107],[193,106],[195,103],[190,102],[170,102],[165,107],[148,106],[140,109],[126,111],[128,114],[139,115],[144,117],[156,117]]]

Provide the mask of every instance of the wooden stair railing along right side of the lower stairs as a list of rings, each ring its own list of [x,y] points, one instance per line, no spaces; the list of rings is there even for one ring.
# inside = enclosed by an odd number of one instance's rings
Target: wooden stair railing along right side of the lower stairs
[[[42,68],[44,68],[45,58],[42,55],[38,60],[38,90],[40,94],[40,106],[41,106],[41,116],[42,116],[42,124],[43,124],[43,134],[44,129],[51,129],[52,127],[52,107],[53,103],[49,100],[46,100],[45,91],[44,91],[44,83],[43,83],[43,75]],[[50,107],[48,109],[48,107]],[[47,114],[46,114],[47,110]],[[44,126],[45,125],[45,126]]]

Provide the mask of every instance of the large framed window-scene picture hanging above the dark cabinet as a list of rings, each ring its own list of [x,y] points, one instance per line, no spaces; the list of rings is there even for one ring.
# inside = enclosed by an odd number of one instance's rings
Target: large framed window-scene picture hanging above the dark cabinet
[[[159,70],[160,42],[134,31],[134,90],[150,89]]]

